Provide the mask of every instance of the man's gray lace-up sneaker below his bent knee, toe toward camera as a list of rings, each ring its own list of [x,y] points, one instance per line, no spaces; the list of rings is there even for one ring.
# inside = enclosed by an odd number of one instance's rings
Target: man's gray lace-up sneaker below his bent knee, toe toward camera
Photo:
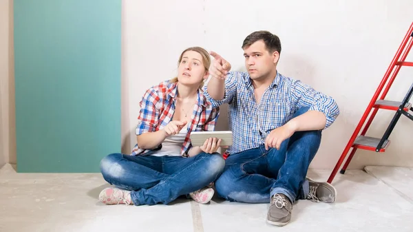
[[[284,194],[274,194],[271,198],[266,221],[275,226],[284,226],[290,222],[292,210],[293,205]]]

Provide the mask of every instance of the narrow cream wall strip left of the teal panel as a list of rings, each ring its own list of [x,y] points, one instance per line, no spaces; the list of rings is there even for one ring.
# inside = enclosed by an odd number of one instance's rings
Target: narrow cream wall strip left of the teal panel
[[[0,0],[0,166],[16,163],[14,72],[12,69],[12,0]]]

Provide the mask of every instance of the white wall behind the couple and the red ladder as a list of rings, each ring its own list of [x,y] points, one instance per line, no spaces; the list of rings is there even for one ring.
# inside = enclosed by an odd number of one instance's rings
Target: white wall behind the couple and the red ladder
[[[282,41],[278,70],[333,96],[341,109],[324,131],[312,168],[331,169],[366,109],[405,32],[411,0],[366,1],[123,1],[123,152],[135,144],[138,103],[145,89],[176,74],[180,52],[199,45],[244,70],[241,44],[255,30]],[[412,52],[413,53],[413,52]],[[413,55],[410,55],[413,61]],[[402,99],[413,68],[401,70],[388,97]],[[400,92],[396,92],[400,91]],[[379,112],[368,135],[381,136],[392,112]],[[219,129],[226,129],[222,114]],[[407,136],[413,122],[401,118],[385,154],[358,151],[350,168],[413,166]]]

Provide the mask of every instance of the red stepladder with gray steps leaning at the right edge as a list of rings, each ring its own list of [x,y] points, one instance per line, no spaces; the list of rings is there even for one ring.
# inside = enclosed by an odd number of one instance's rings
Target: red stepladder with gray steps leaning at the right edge
[[[341,174],[343,174],[346,171],[348,164],[350,163],[357,149],[384,152],[385,149],[388,147],[388,145],[390,145],[390,140],[388,140],[388,138],[390,134],[392,133],[394,126],[396,125],[397,121],[399,120],[402,114],[404,116],[407,116],[407,118],[410,118],[411,120],[413,120],[412,114],[409,114],[409,110],[413,111],[412,104],[409,103],[410,98],[413,95],[413,84],[410,86],[410,89],[407,91],[407,94],[405,95],[405,98],[403,99],[403,101],[384,100],[386,94],[388,94],[388,91],[390,87],[392,86],[394,79],[399,73],[400,68],[402,66],[413,66],[413,62],[405,61],[407,54],[409,54],[410,49],[412,48],[412,45],[413,45],[413,23],[412,25],[410,25],[409,30],[405,34],[405,37],[401,45],[399,46],[399,50],[397,50],[396,54],[394,55],[392,63],[390,63],[388,70],[387,72],[385,72],[379,87],[377,87],[377,90],[374,93],[372,100],[368,104],[366,111],[361,117],[359,125],[357,125],[356,129],[354,129],[354,132],[350,140],[348,140],[346,148],[343,150],[343,153],[341,154],[339,161],[335,165],[335,168],[332,170],[332,173],[327,180],[328,183],[331,183],[332,180],[335,178],[335,175],[337,174],[337,171],[341,167],[341,163],[343,162],[344,158],[346,158],[348,151],[350,151],[350,148],[352,148],[352,151],[350,152],[350,156],[348,156],[346,163],[344,164],[343,168],[340,171]],[[401,59],[399,61],[400,56],[401,56]],[[390,74],[392,74],[392,76],[389,80]],[[384,91],[383,91],[383,87],[385,87]],[[379,98],[379,94],[382,91],[383,93],[381,94]],[[361,127],[363,127],[372,109],[373,109],[373,112],[370,115],[370,118],[368,118],[368,121],[366,123],[366,126],[363,128],[363,131],[361,131],[361,134],[359,135]],[[372,137],[366,136],[368,127],[370,127],[372,120],[374,116],[376,116],[376,113],[379,109],[390,109],[390,110],[394,110],[396,113],[394,114],[394,117],[392,118],[392,121],[390,122],[388,129],[386,129],[385,133],[383,134],[383,137],[372,138]]]

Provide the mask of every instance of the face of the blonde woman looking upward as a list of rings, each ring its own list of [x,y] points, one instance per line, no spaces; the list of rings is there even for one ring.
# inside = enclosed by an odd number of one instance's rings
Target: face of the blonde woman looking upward
[[[209,73],[205,70],[201,54],[194,51],[184,52],[178,66],[178,82],[198,88],[208,76]]]

